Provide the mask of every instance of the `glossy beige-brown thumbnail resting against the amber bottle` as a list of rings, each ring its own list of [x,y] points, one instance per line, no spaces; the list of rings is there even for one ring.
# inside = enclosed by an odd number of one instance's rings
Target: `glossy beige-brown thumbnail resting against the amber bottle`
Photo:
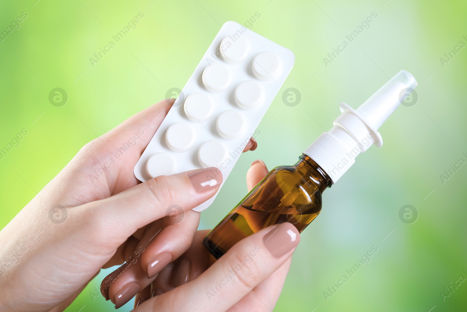
[[[300,233],[289,222],[284,222],[272,229],[263,238],[264,247],[276,258],[287,254],[290,250],[297,247],[299,242]]]

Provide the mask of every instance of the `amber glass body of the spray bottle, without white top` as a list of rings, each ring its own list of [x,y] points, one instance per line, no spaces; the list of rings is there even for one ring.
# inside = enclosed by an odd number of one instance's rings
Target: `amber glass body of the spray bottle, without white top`
[[[269,174],[205,237],[204,246],[219,259],[235,243],[269,225],[290,222],[302,232],[321,211],[321,193],[333,181],[303,154],[294,166]]]

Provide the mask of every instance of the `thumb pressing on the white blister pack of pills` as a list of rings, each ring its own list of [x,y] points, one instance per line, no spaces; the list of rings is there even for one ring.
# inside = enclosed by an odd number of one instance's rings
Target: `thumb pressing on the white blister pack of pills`
[[[216,167],[187,171],[170,176],[161,175],[140,183],[106,199],[87,203],[90,220],[118,225],[123,238],[157,219],[173,213],[190,210],[216,194],[222,184],[222,173]],[[177,205],[177,206],[173,206]],[[92,222],[92,221],[91,221]],[[101,226],[101,225],[98,225]]]

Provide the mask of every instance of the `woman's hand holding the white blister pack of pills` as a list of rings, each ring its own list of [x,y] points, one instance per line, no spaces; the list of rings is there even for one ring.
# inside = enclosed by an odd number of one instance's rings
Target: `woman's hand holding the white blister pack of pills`
[[[63,311],[100,268],[168,237],[171,260],[190,248],[199,222],[191,209],[216,193],[219,170],[146,183],[133,174],[171,104],[159,102],[85,145],[0,232],[0,310]],[[167,217],[174,207],[183,223]]]

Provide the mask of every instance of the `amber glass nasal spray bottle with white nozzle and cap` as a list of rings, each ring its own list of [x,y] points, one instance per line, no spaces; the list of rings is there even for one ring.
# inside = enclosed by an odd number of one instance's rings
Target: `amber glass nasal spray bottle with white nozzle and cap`
[[[203,243],[219,259],[235,243],[269,225],[290,222],[299,232],[321,211],[321,194],[371,145],[382,146],[379,127],[403,102],[417,81],[402,70],[358,109],[340,104],[341,114],[293,166],[268,175],[205,237]]]

